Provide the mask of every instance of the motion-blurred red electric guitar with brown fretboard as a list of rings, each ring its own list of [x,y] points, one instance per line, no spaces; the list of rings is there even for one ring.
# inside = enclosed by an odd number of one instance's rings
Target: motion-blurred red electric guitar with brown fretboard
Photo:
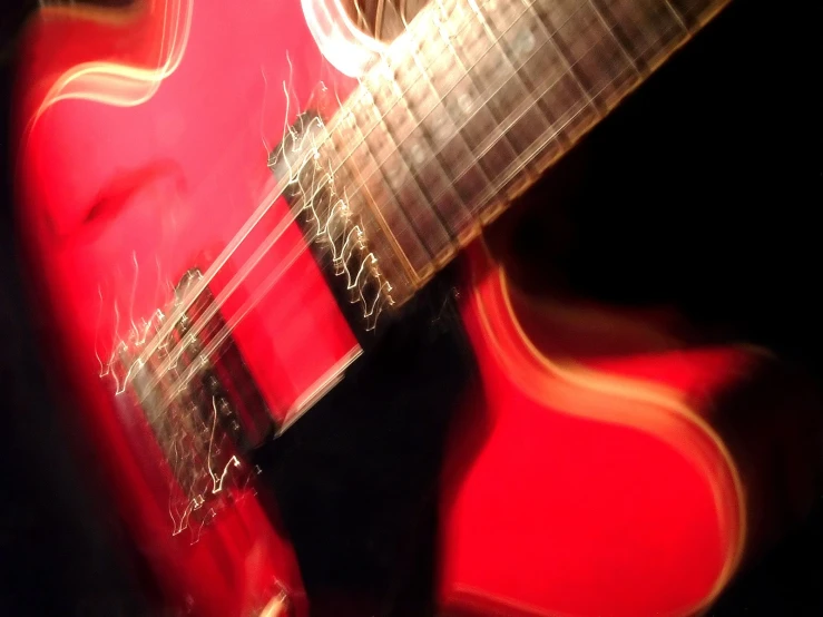
[[[33,17],[16,155],[37,308],[166,606],[308,614],[253,452],[459,256],[483,421],[444,470],[442,609],[711,605],[772,497],[717,401],[767,354],[536,303],[481,235],[725,3],[431,0],[382,39],[339,0]]]

